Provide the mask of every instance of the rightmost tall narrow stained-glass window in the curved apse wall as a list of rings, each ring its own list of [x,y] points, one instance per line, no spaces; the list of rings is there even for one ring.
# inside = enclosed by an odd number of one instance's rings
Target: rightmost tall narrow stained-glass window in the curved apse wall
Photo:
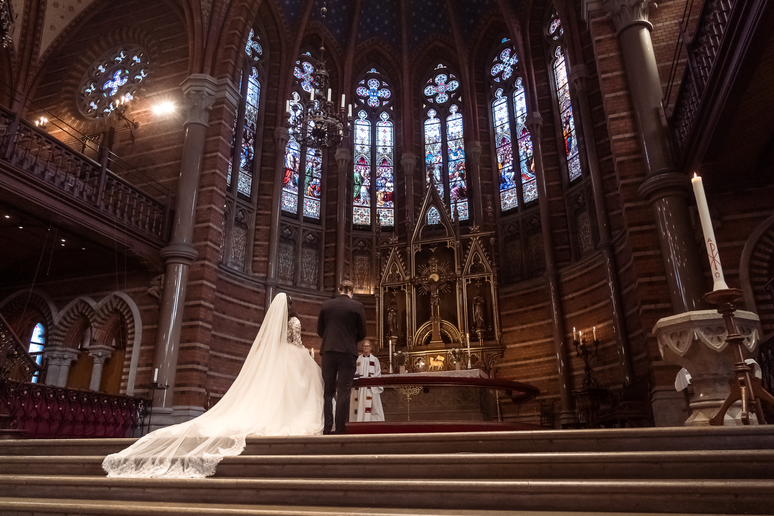
[[[556,11],[553,12],[546,26],[546,38],[549,41],[550,63],[553,71],[553,85],[557,94],[567,175],[570,181],[573,181],[581,175],[580,155],[578,154],[573,104],[570,99],[570,84],[567,80],[567,60],[564,59],[564,29]]]

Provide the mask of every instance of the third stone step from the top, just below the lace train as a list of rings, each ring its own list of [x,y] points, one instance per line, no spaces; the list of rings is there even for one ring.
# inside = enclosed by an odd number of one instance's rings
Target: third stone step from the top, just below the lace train
[[[471,511],[774,514],[774,480],[123,479],[0,475],[0,496]]]

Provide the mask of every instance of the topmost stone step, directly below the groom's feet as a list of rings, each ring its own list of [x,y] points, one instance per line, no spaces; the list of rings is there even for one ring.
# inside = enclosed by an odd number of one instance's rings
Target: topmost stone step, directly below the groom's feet
[[[0,440],[0,456],[108,455],[136,439]],[[247,439],[246,455],[368,453],[635,452],[684,449],[774,449],[774,425],[647,429],[536,430]]]

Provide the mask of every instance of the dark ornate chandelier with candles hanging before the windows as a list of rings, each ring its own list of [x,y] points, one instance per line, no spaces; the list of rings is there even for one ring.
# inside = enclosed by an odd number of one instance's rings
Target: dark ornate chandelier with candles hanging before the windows
[[[325,34],[325,2],[320,9],[323,19],[323,35]],[[325,46],[320,37],[320,60],[314,67],[312,74],[309,98],[301,98],[300,101],[286,101],[284,126],[293,134],[293,138],[300,145],[309,149],[316,149],[319,155],[320,149],[335,147],[341,143],[341,138],[349,136],[352,130],[352,106],[349,113],[344,111],[344,95],[341,95],[341,108],[336,108],[330,100],[330,77],[324,59]],[[327,90],[327,99],[323,94]]]

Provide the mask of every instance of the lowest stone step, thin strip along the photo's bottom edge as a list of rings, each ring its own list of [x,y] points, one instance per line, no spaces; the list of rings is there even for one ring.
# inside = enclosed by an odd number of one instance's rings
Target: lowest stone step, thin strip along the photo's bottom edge
[[[467,511],[464,509],[382,509],[372,507],[293,507],[291,505],[171,504],[146,501],[60,500],[0,498],[4,516],[614,516],[605,512]],[[619,513],[615,513],[619,514]],[[663,516],[629,513],[628,516]],[[681,514],[680,516],[700,516]]]

